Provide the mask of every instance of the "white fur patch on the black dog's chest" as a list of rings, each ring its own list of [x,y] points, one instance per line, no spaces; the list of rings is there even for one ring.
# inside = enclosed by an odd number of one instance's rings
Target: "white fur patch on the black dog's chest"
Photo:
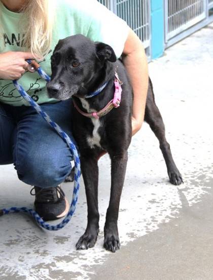
[[[95,112],[95,110],[90,108],[89,103],[85,99],[81,98],[80,100],[82,106],[88,113]],[[100,135],[98,134],[98,129],[101,126],[100,120],[96,118],[91,118],[91,120],[94,128],[93,128],[92,136],[87,137],[87,143],[90,146],[90,148],[94,148],[95,145],[101,148]]]

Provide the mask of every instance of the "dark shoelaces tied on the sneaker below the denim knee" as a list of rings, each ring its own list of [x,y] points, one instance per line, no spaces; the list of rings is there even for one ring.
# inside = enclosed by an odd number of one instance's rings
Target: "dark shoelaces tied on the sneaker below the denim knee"
[[[35,192],[34,194],[32,193],[35,191],[35,187],[33,187],[30,191],[30,195],[32,196],[38,196],[40,202],[51,202],[54,201],[54,191],[56,191],[57,198],[64,198],[65,194],[60,188],[59,185],[57,185],[55,188],[44,188],[41,189],[39,192]],[[60,197],[58,196],[58,193]]]

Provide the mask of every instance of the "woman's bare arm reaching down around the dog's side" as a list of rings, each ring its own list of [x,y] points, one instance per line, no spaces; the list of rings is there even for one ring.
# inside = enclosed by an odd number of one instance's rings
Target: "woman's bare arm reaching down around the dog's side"
[[[132,135],[134,135],[144,121],[149,74],[143,43],[131,29],[125,42],[122,61],[133,88]]]

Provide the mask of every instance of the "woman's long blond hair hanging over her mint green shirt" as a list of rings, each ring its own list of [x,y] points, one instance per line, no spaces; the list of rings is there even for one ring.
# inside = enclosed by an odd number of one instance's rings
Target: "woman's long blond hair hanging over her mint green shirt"
[[[26,0],[22,8],[21,31],[23,46],[27,51],[42,59],[49,51],[54,22],[54,0]]]

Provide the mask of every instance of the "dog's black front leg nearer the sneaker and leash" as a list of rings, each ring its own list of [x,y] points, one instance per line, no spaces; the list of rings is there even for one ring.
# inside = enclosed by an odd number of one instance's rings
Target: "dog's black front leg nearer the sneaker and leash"
[[[98,213],[98,165],[97,159],[81,155],[81,170],[87,197],[87,228],[76,244],[77,250],[88,249],[95,245],[99,232]]]

